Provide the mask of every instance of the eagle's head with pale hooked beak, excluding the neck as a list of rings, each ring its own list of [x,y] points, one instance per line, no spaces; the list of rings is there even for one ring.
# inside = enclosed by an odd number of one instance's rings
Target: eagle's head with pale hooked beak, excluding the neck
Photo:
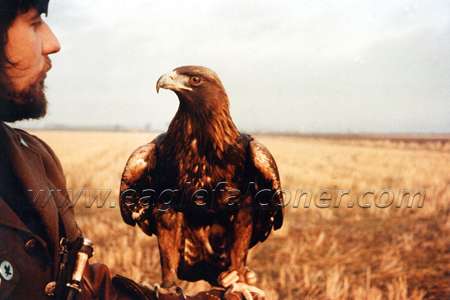
[[[228,96],[217,74],[201,66],[183,66],[162,75],[156,83],[156,91],[174,91],[180,105],[195,110],[228,108]],[[203,109],[202,109],[203,108]]]

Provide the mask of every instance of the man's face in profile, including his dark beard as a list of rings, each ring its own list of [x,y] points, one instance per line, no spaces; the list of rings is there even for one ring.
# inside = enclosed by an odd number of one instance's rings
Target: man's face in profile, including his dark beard
[[[18,121],[45,115],[44,80],[51,68],[49,55],[60,45],[36,9],[19,14],[8,29],[5,69],[7,99],[0,99],[0,120]]]

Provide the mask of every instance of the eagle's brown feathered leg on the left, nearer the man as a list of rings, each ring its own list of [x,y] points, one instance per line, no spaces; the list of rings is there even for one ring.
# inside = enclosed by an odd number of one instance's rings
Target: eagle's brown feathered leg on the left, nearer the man
[[[172,211],[163,212],[157,222],[158,246],[161,260],[163,288],[176,286],[180,263],[183,216]]]

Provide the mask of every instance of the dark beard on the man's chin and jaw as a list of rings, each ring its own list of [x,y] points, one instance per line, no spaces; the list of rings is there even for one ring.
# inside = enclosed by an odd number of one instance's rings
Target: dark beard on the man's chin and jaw
[[[0,81],[0,121],[16,122],[39,119],[47,113],[45,73],[26,90],[14,91],[11,84]]]

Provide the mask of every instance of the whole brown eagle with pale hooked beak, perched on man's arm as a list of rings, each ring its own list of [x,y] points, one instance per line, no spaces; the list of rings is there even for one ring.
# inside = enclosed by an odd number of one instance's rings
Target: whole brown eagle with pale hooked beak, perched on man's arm
[[[210,69],[177,68],[160,77],[160,88],[177,94],[179,108],[167,132],[129,158],[122,217],[157,236],[163,287],[177,279],[251,284],[249,249],[283,224],[275,160],[238,131]]]

